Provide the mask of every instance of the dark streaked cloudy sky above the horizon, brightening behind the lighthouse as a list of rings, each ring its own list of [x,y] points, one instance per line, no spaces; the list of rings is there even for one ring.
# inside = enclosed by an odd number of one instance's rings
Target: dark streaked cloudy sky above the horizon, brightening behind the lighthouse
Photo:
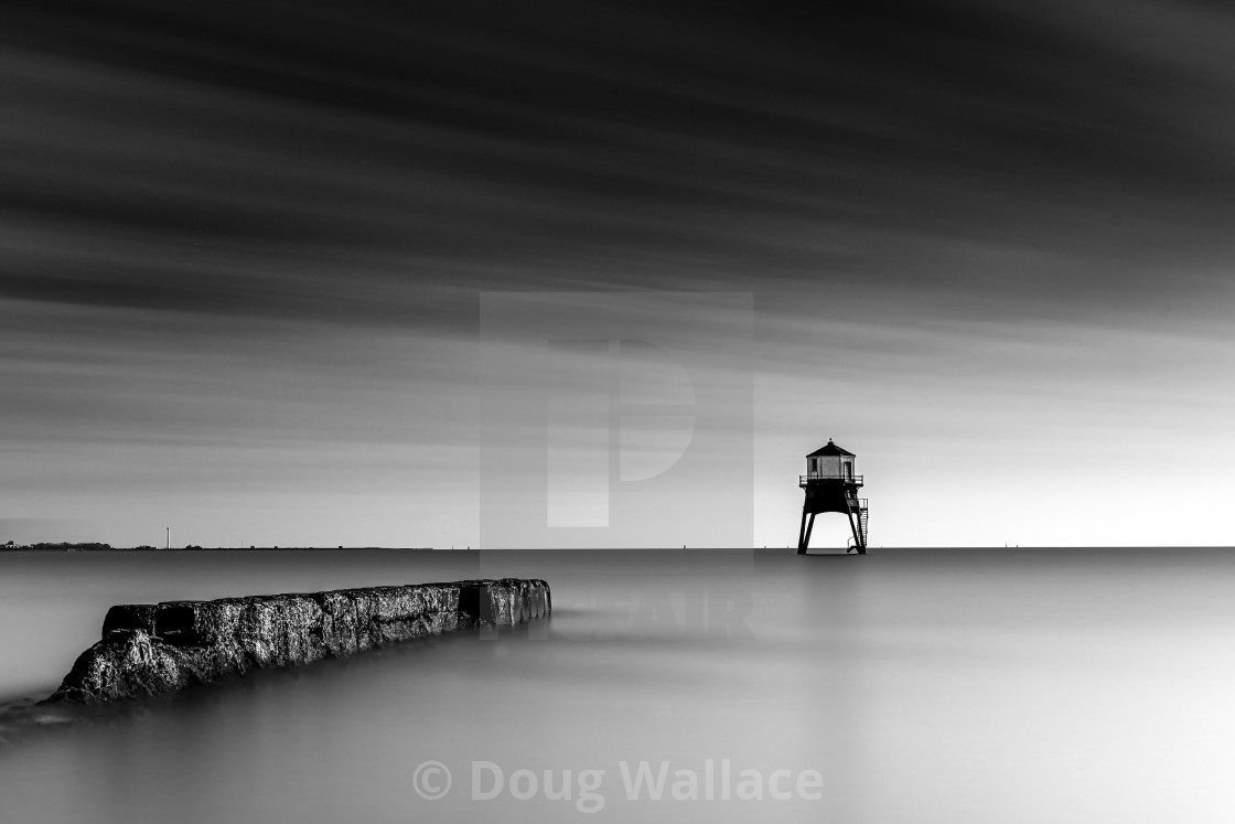
[[[1223,4],[16,1],[0,77],[0,542],[579,542],[482,495],[519,293],[748,300],[631,332],[748,343],[662,478],[748,503],[600,544],[793,544],[830,437],[872,547],[1235,544]]]

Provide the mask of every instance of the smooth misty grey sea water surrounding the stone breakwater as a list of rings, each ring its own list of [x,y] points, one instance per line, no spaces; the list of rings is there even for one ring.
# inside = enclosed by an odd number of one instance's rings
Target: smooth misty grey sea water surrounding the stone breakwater
[[[114,603],[506,574],[553,618],[27,705]],[[1233,650],[1229,550],[5,553],[0,820],[1229,822]]]

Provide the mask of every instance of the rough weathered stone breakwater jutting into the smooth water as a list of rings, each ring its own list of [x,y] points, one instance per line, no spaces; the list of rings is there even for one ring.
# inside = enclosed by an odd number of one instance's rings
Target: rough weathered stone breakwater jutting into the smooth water
[[[173,693],[253,670],[310,663],[547,615],[548,583],[501,578],[219,600],[121,604],[48,699],[98,704]]]

